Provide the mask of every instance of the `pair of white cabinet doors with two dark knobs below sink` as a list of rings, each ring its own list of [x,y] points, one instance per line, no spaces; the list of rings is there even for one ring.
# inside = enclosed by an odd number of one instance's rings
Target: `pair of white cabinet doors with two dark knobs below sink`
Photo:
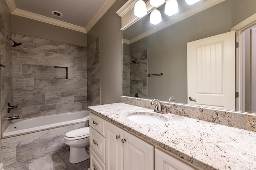
[[[105,122],[106,170],[154,170],[154,146]]]

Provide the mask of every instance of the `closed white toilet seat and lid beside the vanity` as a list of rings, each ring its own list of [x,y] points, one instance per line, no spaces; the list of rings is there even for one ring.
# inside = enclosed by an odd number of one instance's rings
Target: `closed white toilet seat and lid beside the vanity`
[[[82,127],[73,131],[69,131],[65,134],[66,140],[78,140],[89,137],[89,127]]]

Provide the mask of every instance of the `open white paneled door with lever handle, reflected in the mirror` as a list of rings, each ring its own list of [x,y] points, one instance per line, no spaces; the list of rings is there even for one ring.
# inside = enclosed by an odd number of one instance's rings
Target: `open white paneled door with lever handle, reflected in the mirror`
[[[188,104],[235,110],[235,31],[188,43]]]

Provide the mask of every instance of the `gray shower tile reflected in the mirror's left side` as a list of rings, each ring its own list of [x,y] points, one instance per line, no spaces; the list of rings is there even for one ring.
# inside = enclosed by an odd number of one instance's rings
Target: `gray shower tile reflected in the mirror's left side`
[[[137,93],[139,98],[148,98],[147,72],[147,50],[123,54],[123,95],[134,97]]]

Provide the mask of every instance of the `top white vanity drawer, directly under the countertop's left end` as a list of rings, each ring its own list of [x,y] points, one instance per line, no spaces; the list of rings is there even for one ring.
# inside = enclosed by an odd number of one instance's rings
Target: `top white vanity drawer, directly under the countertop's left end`
[[[96,116],[94,113],[89,113],[89,123],[98,133],[105,137],[105,120]]]

